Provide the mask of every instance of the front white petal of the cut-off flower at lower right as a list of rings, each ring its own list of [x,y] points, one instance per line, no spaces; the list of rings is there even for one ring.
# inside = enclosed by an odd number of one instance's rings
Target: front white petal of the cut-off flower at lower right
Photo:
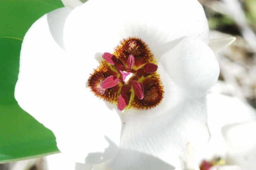
[[[256,121],[223,127],[227,140],[227,161],[239,165],[243,170],[255,170]]]

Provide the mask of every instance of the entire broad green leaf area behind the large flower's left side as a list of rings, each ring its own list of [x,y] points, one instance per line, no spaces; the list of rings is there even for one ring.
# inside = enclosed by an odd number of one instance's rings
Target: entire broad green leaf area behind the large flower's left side
[[[21,43],[29,27],[61,0],[0,0],[0,163],[59,152],[53,133],[14,98]]]

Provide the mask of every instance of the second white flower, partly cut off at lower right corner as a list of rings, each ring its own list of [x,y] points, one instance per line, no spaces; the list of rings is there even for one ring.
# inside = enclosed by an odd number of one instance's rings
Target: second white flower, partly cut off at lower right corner
[[[227,164],[210,170],[254,170],[256,111],[237,98],[211,94],[208,96],[208,116],[212,137],[202,157],[210,160],[220,156]]]

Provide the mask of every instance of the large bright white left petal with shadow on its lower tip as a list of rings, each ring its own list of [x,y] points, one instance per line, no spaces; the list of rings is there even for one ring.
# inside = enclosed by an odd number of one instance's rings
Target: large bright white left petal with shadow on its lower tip
[[[86,87],[96,67],[96,60],[81,62],[62,50],[51,35],[46,15],[24,38],[15,97],[53,131],[58,148],[81,163],[108,160],[115,155],[120,137],[118,114]]]

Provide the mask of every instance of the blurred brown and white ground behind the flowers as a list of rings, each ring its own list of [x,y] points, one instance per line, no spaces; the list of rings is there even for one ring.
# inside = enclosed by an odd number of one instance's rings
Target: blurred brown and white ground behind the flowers
[[[221,75],[212,91],[236,96],[256,108],[256,0],[199,1],[208,18],[210,38],[237,38],[216,54]],[[0,164],[0,170],[45,169],[44,157]]]

